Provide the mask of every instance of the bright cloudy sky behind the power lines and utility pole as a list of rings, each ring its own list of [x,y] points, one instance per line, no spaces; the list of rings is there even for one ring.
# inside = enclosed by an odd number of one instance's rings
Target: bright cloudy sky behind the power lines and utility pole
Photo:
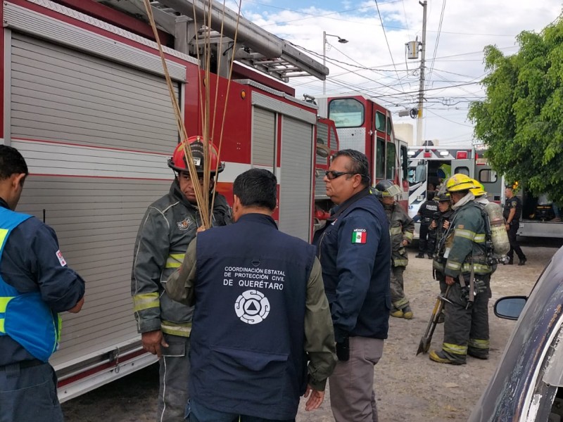
[[[372,96],[391,107],[396,123],[410,122],[415,131],[416,120],[396,113],[417,106],[420,62],[406,59],[405,43],[421,41],[422,11],[418,0],[242,0],[245,18],[316,53],[320,62],[323,31],[347,39],[339,44],[327,37],[327,94]],[[422,139],[439,139],[443,146],[471,143],[467,108],[484,96],[483,47],[516,53],[519,32],[540,32],[561,11],[561,0],[428,0]],[[322,94],[322,82],[313,77],[290,84],[298,97]]]

